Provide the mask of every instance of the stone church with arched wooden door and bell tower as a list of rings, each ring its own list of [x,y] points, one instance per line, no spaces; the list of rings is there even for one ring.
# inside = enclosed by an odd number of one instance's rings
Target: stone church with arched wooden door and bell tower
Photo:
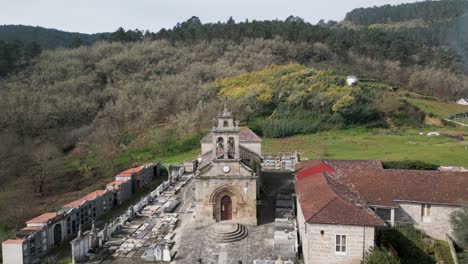
[[[197,226],[220,221],[257,225],[261,138],[226,107],[201,140],[195,174]]]

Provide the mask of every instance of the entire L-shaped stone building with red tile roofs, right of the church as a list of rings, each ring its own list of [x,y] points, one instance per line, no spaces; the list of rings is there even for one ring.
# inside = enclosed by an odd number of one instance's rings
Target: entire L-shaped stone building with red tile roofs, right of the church
[[[359,263],[375,230],[413,224],[436,239],[468,202],[468,173],[384,169],[380,161],[314,160],[295,168],[305,263]]]

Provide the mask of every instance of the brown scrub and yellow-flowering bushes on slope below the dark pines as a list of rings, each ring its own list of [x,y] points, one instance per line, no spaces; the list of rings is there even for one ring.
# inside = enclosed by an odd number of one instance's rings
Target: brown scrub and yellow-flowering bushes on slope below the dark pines
[[[101,42],[43,52],[0,81],[0,223],[53,209],[135,163],[193,157],[225,98],[241,120],[257,120],[252,128],[271,137],[423,125],[424,113],[388,85],[345,86],[339,72],[350,66],[328,70],[340,64],[330,50],[328,61],[315,55],[324,50],[254,39]],[[350,56],[349,63],[385,69],[390,62]]]

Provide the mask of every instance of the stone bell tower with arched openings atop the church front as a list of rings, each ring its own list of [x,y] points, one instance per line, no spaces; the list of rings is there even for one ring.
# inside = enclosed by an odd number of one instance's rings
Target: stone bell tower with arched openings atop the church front
[[[224,106],[213,119],[213,161],[239,160],[239,122]]]

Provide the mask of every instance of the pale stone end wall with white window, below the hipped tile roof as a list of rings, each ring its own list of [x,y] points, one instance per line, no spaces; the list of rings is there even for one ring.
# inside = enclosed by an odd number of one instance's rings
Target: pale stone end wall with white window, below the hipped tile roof
[[[297,222],[305,264],[359,264],[374,246],[375,228],[371,226],[309,224],[298,203]],[[346,253],[335,252],[336,235],[346,235]]]

